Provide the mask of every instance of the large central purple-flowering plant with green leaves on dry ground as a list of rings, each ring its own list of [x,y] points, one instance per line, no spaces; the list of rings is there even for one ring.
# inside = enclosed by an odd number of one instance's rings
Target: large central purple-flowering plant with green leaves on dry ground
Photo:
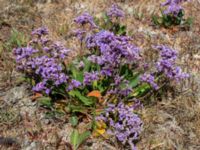
[[[137,99],[159,90],[163,82],[179,82],[188,75],[176,66],[177,52],[164,45],[153,46],[159,59],[148,68],[140,48],[120,24],[123,17],[125,13],[113,5],[102,19],[88,13],[75,18],[79,28],[73,32],[84,51],[71,62],[66,60],[72,50],[52,41],[45,27],[34,30],[31,41],[14,49],[14,55],[33,91],[52,100],[64,98],[73,116],[93,115],[91,122],[103,121],[108,133],[135,149],[143,124],[136,114],[141,106]],[[97,113],[99,109],[102,113]]]

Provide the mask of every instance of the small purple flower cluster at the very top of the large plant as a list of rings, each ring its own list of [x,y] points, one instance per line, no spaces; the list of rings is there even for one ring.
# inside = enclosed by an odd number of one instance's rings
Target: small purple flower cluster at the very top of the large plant
[[[116,17],[116,18],[123,18],[125,16],[125,13],[123,10],[119,8],[117,4],[113,4],[111,8],[107,11],[107,15],[110,18]]]

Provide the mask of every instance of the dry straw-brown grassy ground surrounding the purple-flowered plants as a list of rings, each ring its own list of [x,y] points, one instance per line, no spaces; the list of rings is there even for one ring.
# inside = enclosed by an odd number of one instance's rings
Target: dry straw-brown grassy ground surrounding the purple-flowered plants
[[[101,16],[113,2],[126,10],[123,23],[143,51],[151,45],[169,44],[179,51],[179,64],[190,78],[176,85],[160,101],[144,107],[144,129],[137,143],[139,150],[200,149],[200,1],[185,3],[186,16],[193,16],[190,30],[155,28],[151,15],[159,13],[161,0],[0,0],[0,149],[70,149],[72,127],[67,117],[46,119],[45,109],[32,101],[33,93],[19,84],[12,56],[12,30],[28,35],[35,27],[47,26],[52,38],[78,50],[70,40],[73,18],[88,11]],[[9,44],[12,44],[10,46]],[[10,46],[10,47],[9,47]],[[74,54],[75,55],[75,54]],[[150,61],[150,60],[149,60]],[[175,84],[174,84],[175,85]],[[84,124],[80,125],[84,128]],[[4,144],[1,137],[9,137]],[[13,140],[13,141],[12,141]],[[6,144],[5,144],[6,143]],[[116,142],[90,138],[80,149],[119,150]]]

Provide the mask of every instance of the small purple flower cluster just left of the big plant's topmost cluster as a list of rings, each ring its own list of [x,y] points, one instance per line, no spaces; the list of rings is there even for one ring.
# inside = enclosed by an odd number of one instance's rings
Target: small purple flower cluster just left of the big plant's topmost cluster
[[[96,28],[97,25],[94,23],[93,17],[89,13],[83,13],[82,15],[76,17],[74,22],[79,25],[89,24],[91,28]]]

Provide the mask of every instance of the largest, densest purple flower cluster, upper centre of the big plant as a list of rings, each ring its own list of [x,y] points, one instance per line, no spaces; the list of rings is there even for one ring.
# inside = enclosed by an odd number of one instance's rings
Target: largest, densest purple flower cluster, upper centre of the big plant
[[[108,68],[134,63],[140,59],[139,48],[131,44],[130,40],[128,37],[117,36],[104,30],[91,35],[87,38],[86,45],[91,50],[99,49],[100,55],[93,55],[89,59]]]

